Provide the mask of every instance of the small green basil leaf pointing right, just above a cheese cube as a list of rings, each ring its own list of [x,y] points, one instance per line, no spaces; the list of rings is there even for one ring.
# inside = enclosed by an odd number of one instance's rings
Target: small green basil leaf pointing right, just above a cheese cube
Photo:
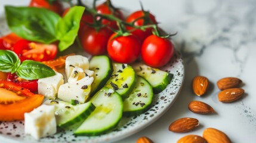
[[[23,79],[33,80],[54,76],[55,71],[41,62],[24,60],[18,67],[16,74]]]

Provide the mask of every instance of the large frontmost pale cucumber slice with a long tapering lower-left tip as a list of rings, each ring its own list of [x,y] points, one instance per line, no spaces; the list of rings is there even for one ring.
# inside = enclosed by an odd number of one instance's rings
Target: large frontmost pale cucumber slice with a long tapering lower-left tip
[[[113,89],[103,87],[90,101],[96,108],[82,125],[75,130],[75,135],[100,135],[115,128],[121,120],[123,111],[122,98]]]

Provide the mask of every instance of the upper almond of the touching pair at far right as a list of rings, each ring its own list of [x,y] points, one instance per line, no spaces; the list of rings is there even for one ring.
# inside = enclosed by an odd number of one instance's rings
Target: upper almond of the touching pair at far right
[[[225,77],[223,79],[218,80],[217,86],[220,90],[224,90],[229,88],[238,88],[240,83],[242,83],[242,80],[236,77]]]

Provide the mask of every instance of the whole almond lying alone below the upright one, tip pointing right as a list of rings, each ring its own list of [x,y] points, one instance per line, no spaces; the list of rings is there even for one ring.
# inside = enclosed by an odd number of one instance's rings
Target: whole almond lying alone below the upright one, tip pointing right
[[[188,106],[189,110],[198,114],[214,113],[214,109],[202,101],[191,101]]]

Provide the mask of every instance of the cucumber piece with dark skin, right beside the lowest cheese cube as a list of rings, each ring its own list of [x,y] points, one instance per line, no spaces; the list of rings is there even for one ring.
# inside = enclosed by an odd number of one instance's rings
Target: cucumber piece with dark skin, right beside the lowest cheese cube
[[[84,104],[72,105],[64,101],[51,101],[51,105],[55,105],[55,118],[57,126],[67,128],[75,123],[87,119],[94,111],[95,106],[91,101]]]

